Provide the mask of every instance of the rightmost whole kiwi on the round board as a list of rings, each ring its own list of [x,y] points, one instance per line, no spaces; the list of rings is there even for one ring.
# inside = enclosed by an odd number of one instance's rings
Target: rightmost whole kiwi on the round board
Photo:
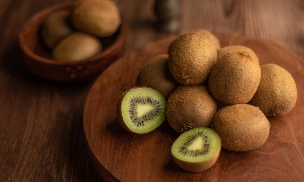
[[[261,66],[261,81],[250,101],[267,116],[280,116],[289,112],[297,100],[297,87],[291,74],[275,64]]]

